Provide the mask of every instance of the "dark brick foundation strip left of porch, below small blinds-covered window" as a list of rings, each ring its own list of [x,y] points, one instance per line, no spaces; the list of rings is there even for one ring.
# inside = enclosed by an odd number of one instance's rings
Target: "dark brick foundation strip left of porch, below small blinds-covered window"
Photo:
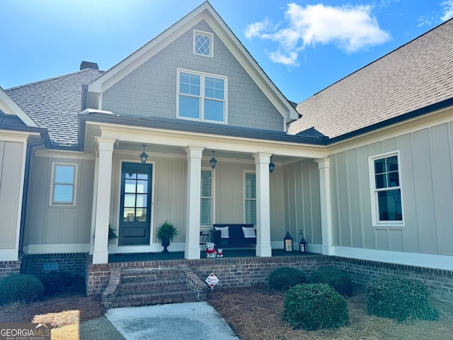
[[[64,271],[74,276],[85,276],[87,255],[86,253],[28,255],[25,273],[38,275],[47,271]]]

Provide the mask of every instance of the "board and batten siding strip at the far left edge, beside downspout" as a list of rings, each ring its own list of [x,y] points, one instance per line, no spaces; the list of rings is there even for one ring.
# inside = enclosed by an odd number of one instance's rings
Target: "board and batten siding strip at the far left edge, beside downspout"
[[[21,202],[24,144],[0,141],[0,249],[15,249]]]

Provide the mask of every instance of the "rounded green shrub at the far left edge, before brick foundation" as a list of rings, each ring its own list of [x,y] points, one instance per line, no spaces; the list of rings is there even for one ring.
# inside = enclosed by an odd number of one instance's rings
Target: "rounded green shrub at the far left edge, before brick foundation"
[[[0,280],[0,305],[10,302],[40,300],[44,286],[33,275],[11,275]]]

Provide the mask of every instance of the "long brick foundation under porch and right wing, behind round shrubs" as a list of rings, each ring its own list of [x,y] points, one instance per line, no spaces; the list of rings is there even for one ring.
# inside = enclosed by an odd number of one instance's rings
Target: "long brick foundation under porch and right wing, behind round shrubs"
[[[202,281],[214,273],[219,278],[217,287],[244,287],[268,283],[271,271],[280,266],[298,268],[306,274],[321,266],[333,266],[347,271],[355,283],[366,285],[378,276],[398,275],[422,280],[432,297],[453,302],[453,271],[403,266],[393,263],[346,259],[338,256],[275,256],[241,257],[200,260],[142,261],[127,263],[92,264],[88,256],[86,266],[86,293],[100,295],[110,280],[110,268],[159,268],[187,265]]]

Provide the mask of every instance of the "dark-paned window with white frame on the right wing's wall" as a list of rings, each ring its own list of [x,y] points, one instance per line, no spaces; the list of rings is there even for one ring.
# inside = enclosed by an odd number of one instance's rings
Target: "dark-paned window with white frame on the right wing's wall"
[[[398,152],[370,157],[374,225],[403,224],[398,157]]]

